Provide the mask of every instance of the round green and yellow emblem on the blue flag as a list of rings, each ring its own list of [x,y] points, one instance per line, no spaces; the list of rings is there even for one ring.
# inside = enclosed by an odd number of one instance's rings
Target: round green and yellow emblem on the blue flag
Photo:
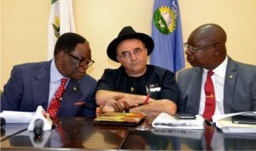
[[[170,34],[176,28],[176,14],[167,6],[161,6],[154,12],[153,20],[155,27],[163,34]]]

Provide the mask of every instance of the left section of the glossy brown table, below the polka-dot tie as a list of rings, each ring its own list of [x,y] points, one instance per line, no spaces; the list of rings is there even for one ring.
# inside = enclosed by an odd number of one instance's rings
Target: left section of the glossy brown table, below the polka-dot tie
[[[32,131],[21,131],[15,136],[1,142],[2,149],[26,150],[42,148],[84,148],[84,149],[118,149],[128,134],[122,129],[101,129],[92,124],[93,119],[82,117],[65,117],[55,121],[52,131],[44,131],[42,137],[34,137]],[[8,126],[8,125],[6,125]]]

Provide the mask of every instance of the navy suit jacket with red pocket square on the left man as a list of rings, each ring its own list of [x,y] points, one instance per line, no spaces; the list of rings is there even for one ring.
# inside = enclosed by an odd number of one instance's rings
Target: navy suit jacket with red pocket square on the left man
[[[45,110],[49,98],[50,63],[15,65],[1,95],[1,111],[35,111],[38,105]],[[68,81],[58,116],[94,116],[96,113],[96,80],[84,76],[80,81]],[[85,103],[84,103],[85,102]]]

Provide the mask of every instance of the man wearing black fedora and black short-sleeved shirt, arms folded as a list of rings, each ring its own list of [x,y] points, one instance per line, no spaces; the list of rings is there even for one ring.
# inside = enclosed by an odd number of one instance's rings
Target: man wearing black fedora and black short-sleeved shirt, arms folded
[[[176,110],[177,85],[172,71],[147,64],[154,41],[146,34],[125,26],[109,43],[108,57],[119,69],[106,69],[98,82],[98,113],[143,112],[147,116]]]

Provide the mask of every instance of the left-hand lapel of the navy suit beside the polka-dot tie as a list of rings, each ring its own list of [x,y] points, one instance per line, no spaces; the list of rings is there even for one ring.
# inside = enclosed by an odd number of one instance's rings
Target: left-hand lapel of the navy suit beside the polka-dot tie
[[[50,70],[49,61],[47,64],[43,64],[35,74],[35,79],[32,81],[32,95],[34,100],[34,105],[42,105],[46,110],[48,106],[49,98],[49,70]]]

